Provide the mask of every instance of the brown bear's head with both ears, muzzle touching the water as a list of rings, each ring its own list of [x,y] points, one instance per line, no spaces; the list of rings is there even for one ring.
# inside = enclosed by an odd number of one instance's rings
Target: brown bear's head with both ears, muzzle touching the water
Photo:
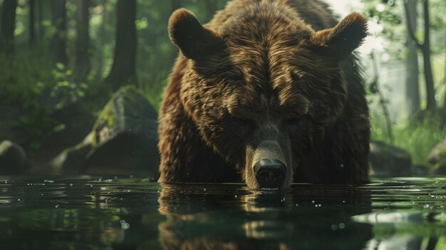
[[[248,187],[289,187],[347,98],[341,63],[367,33],[361,14],[314,31],[295,11],[240,11],[218,30],[186,9],[169,33],[187,70],[180,98],[209,147]],[[208,166],[212,167],[212,166]]]

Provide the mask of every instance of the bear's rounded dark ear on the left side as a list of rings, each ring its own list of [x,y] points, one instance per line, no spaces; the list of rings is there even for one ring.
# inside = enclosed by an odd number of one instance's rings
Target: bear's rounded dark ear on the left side
[[[204,28],[187,9],[178,9],[169,19],[170,41],[182,54],[193,60],[222,48],[223,39],[209,28]]]

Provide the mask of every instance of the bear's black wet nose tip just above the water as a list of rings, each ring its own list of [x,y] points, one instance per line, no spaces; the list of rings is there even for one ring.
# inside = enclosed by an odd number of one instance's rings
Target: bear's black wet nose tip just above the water
[[[281,187],[285,181],[285,165],[279,160],[262,159],[254,166],[260,187]]]

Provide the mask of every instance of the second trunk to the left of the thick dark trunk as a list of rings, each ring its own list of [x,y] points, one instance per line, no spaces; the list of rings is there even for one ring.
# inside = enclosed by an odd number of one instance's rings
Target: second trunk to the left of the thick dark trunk
[[[56,33],[53,36],[54,58],[58,63],[67,65],[68,56],[66,54],[66,0],[53,0],[53,26]]]

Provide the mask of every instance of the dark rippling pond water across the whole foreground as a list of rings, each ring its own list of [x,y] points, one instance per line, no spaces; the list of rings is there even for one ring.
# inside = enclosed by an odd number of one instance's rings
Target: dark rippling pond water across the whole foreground
[[[446,249],[446,178],[157,184],[0,177],[0,249]]]

